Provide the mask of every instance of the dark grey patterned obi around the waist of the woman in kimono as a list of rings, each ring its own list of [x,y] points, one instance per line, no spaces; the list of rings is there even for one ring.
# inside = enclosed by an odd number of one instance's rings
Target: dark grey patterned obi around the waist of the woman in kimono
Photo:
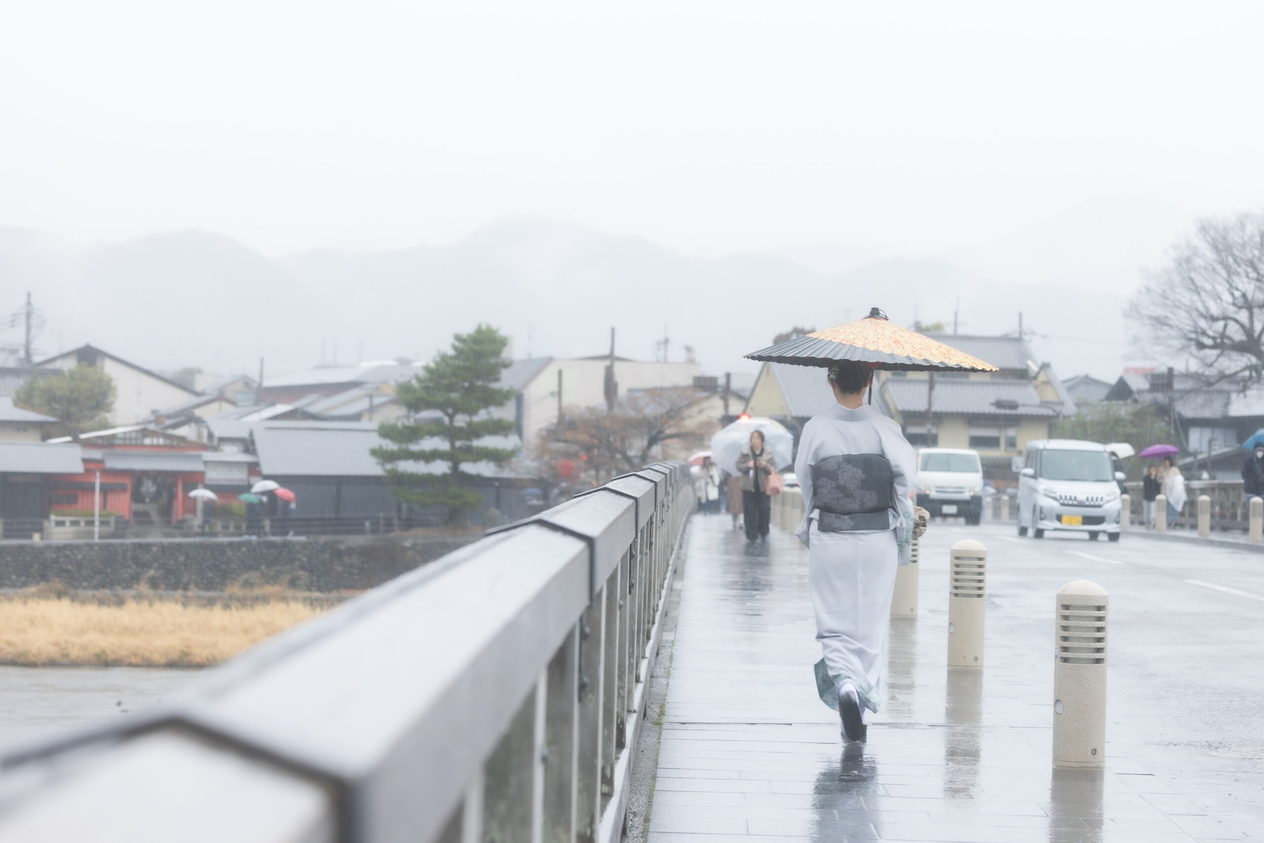
[[[891,461],[880,454],[827,456],[811,466],[817,530],[890,530],[894,488]]]

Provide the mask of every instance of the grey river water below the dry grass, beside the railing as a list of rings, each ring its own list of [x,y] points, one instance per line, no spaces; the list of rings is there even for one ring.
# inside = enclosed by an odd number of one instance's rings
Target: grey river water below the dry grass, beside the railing
[[[0,752],[58,729],[128,717],[162,701],[198,672],[0,666]]]

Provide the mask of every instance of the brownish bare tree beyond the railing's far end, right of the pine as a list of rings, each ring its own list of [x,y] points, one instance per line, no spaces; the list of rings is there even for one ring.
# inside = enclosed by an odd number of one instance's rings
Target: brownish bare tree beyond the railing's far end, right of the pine
[[[646,389],[622,397],[613,411],[568,411],[565,421],[546,434],[546,452],[578,456],[597,482],[636,471],[659,459],[664,444],[699,435],[698,398],[690,388]]]

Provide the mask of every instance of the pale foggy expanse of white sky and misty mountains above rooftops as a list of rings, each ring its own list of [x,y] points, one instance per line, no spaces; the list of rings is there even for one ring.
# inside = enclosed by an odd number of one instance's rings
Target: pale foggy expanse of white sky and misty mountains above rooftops
[[[1259,8],[27,5],[0,312],[157,369],[518,356],[712,373],[884,307],[1063,377],[1205,214],[1264,205]],[[0,343],[11,344],[11,329]]]

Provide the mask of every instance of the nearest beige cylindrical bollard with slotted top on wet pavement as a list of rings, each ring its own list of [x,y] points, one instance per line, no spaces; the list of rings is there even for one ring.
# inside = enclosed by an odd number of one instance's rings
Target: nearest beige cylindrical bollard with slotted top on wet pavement
[[[1058,589],[1053,665],[1053,766],[1106,761],[1106,589],[1074,580]]]

